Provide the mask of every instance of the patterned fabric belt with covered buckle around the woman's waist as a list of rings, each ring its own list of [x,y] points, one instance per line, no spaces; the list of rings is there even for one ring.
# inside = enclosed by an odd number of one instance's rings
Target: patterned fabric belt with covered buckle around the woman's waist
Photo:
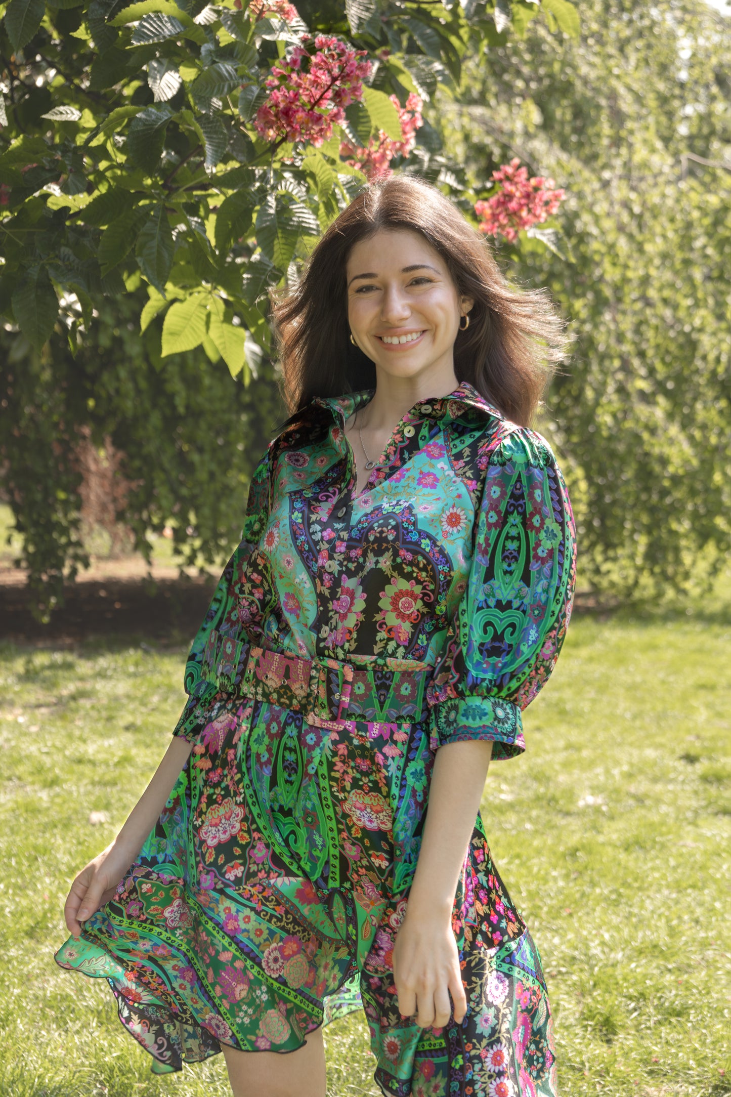
[[[272,652],[212,630],[202,677],[225,692],[305,713],[309,724],[340,731],[346,720],[411,722],[426,716],[432,668],[355,666],[340,659]]]

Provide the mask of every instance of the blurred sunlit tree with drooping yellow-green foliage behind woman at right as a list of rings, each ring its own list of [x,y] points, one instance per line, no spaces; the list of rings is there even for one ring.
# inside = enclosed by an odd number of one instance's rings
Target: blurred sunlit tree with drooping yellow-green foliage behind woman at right
[[[534,21],[466,58],[447,147],[473,177],[518,156],[567,190],[573,262],[525,238],[501,250],[575,337],[544,428],[581,581],[656,595],[712,576],[731,547],[728,22],[695,0],[587,0],[581,18],[578,41]]]

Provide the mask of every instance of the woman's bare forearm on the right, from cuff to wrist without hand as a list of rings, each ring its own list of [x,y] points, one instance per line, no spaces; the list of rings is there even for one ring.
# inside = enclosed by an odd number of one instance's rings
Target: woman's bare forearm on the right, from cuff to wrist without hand
[[[439,747],[429,790],[421,850],[409,894],[408,913],[452,916],[459,873],[472,835],[492,756],[490,740]]]

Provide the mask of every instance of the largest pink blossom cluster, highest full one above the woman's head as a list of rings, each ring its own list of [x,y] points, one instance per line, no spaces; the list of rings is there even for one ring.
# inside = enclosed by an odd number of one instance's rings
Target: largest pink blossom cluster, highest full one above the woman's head
[[[307,140],[321,145],[345,117],[349,103],[363,99],[362,81],[370,75],[365,49],[353,49],[332,35],[318,34],[295,46],[286,65],[274,65],[271,88],[256,111],[254,127],[265,140]]]

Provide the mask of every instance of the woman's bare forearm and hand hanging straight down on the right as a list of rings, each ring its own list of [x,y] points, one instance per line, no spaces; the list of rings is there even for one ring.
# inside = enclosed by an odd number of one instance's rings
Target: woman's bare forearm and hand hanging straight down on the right
[[[461,1024],[467,998],[452,911],[457,882],[480,807],[492,743],[445,744],[434,759],[429,806],[407,913],[393,946],[393,981],[402,1016],[422,1028]]]

